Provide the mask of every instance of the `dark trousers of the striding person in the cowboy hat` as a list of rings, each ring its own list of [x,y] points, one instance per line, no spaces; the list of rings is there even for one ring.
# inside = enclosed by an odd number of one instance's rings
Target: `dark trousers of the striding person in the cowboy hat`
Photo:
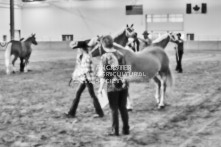
[[[77,110],[77,107],[78,107],[78,103],[80,101],[81,94],[84,91],[84,89],[86,88],[86,86],[88,88],[88,91],[89,91],[89,94],[90,94],[91,98],[93,99],[94,108],[96,110],[96,113],[99,116],[102,117],[104,115],[103,110],[101,109],[100,103],[99,103],[99,101],[98,101],[98,99],[97,99],[97,97],[94,93],[93,84],[90,83],[89,81],[85,81],[85,82],[83,82],[79,85],[76,96],[75,96],[75,99],[73,101],[73,104],[72,104],[68,114],[71,115],[71,116],[75,116],[76,110]]]

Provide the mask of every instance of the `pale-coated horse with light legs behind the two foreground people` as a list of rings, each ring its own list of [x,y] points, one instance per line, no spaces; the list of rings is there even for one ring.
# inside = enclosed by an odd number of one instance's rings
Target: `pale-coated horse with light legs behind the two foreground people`
[[[100,46],[103,50],[102,42]],[[148,82],[153,79],[156,83],[155,98],[158,108],[164,108],[164,97],[167,86],[173,85],[173,77],[169,67],[169,57],[166,52],[158,46],[144,48],[140,52],[133,52],[123,46],[114,43],[114,48],[121,52],[125,59],[125,65],[130,65],[130,73],[142,73],[142,78]]]

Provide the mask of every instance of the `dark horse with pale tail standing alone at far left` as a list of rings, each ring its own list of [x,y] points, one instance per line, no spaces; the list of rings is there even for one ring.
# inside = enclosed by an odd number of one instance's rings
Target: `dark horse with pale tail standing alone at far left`
[[[5,66],[6,73],[10,74],[11,64],[13,65],[13,72],[15,72],[15,62],[17,58],[20,58],[20,71],[27,72],[27,65],[29,63],[29,58],[31,56],[32,48],[31,45],[37,45],[37,41],[35,39],[35,34],[32,34],[31,37],[27,38],[25,41],[15,41],[12,40],[8,43],[7,48],[5,50]],[[14,56],[11,62],[11,56]],[[25,62],[24,62],[25,60]]]

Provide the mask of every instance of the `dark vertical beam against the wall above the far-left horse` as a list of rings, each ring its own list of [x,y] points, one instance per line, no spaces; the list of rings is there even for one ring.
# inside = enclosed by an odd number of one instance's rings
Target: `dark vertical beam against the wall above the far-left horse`
[[[10,35],[13,40],[15,37],[14,0],[10,0]]]

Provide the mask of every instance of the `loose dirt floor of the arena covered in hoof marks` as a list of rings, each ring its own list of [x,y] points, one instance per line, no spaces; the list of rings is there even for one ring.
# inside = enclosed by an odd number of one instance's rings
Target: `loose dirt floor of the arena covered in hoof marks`
[[[168,54],[174,70],[174,53]],[[131,133],[120,137],[105,135],[109,107],[104,118],[93,118],[87,91],[77,118],[63,117],[76,92],[76,84],[68,87],[74,57],[72,50],[34,50],[31,71],[8,76],[0,51],[0,147],[221,146],[221,51],[185,51],[184,73],[174,72],[164,110],[156,109],[153,82],[132,82]]]

